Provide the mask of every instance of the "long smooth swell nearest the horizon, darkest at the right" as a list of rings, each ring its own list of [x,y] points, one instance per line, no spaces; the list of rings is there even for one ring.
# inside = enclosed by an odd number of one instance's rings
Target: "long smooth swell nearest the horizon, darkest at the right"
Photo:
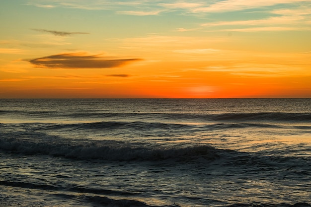
[[[249,113],[146,113],[146,112],[64,112],[64,111],[14,111],[0,110],[0,115],[22,115],[28,118],[65,119],[106,119],[108,120],[161,120],[167,122],[307,122],[311,123],[311,113],[249,112]]]

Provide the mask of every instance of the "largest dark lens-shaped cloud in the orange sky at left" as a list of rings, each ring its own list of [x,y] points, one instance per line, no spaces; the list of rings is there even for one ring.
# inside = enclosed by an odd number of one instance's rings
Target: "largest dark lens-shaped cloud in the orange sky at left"
[[[63,69],[104,69],[115,68],[142,59],[116,59],[101,55],[86,55],[85,53],[64,53],[36,58],[29,62],[38,68]]]

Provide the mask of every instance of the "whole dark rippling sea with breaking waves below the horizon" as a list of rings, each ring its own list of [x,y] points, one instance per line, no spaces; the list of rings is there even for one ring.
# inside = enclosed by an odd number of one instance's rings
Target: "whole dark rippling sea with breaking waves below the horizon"
[[[311,99],[0,99],[0,207],[311,207]]]

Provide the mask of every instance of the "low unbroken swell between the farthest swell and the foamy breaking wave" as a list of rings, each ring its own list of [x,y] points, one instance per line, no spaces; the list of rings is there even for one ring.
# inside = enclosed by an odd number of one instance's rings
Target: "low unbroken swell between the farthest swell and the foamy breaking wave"
[[[3,124],[0,123],[3,130],[9,132],[9,136],[22,136],[28,135],[31,137],[39,138],[40,136],[46,137],[46,133],[117,133],[117,135],[133,134],[134,136],[155,136],[162,135],[193,135],[200,132],[212,132],[214,130],[236,130],[236,129],[284,129],[284,130],[300,130],[300,132],[311,130],[309,124],[293,124],[286,125],[282,123],[165,123],[165,122],[149,122],[145,121],[103,121],[103,122],[88,122],[88,123],[19,123],[19,124]],[[15,129],[15,130],[13,130]],[[3,131],[4,132],[4,131]],[[141,134],[144,133],[144,134]],[[3,134],[8,135],[8,134]]]

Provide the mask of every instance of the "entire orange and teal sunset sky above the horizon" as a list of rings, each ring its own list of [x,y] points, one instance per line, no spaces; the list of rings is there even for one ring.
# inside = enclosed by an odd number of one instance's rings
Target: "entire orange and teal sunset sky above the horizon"
[[[311,0],[1,0],[0,98],[311,98]]]

